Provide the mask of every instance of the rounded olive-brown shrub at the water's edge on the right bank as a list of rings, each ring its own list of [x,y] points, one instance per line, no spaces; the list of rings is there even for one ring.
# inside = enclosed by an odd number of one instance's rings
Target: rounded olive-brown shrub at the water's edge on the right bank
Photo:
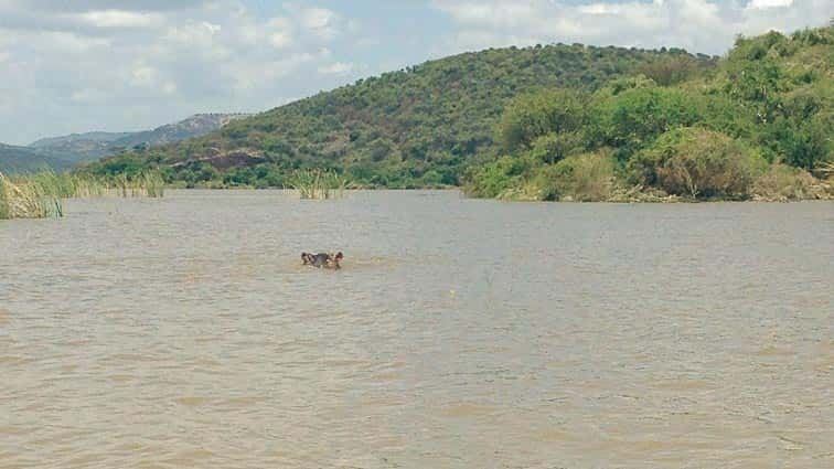
[[[665,132],[629,163],[635,182],[693,199],[747,198],[766,166],[745,142],[697,127]]]

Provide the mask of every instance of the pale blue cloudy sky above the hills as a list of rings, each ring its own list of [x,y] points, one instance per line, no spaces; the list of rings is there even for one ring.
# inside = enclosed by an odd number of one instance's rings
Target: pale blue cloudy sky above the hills
[[[834,0],[0,0],[0,142],[261,111],[488,47],[720,55],[832,17]]]

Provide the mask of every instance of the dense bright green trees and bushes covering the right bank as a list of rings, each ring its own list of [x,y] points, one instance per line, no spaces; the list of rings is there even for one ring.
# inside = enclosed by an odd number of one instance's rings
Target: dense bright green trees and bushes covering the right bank
[[[834,162],[833,64],[834,28],[771,32],[740,38],[714,71],[688,79],[654,71],[657,79],[521,96],[496,131],[506,156],[472,168],[467,191],[535,200],[819,196],[809,172],[823,175]]]

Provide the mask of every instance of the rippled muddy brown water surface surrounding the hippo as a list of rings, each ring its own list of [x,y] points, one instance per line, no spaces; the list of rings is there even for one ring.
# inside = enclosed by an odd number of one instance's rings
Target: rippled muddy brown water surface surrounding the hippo
[[[1,468],[834,467],[832,203],[64,209],[0,222]]]

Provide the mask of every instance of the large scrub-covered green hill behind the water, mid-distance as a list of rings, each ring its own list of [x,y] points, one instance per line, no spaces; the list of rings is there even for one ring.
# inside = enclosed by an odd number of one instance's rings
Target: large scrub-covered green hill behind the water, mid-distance
[[[714,64],[682,50],[580,44],[466,53],[359,81],[202,138],[107,158],[89,170],[160,167],[170,181],[190,186],[281,186],[299,168],[334,169],[376,186],[458,184],[468,167],[499,156],[494,127],[518,94],[594,90],[638,73],[674,84]]]

